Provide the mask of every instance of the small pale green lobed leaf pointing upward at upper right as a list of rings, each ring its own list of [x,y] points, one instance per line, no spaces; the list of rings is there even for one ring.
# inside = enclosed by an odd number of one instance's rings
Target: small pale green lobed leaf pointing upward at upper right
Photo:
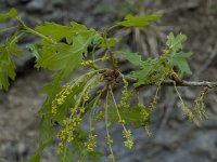
[[[182,43],[187,40],[187,36],[184,35],[178,35],[177,37],[174,36],[173,32],[170,32],[167,36],[167,49],[171,54],[176,54],[179,50],[182,50]]]

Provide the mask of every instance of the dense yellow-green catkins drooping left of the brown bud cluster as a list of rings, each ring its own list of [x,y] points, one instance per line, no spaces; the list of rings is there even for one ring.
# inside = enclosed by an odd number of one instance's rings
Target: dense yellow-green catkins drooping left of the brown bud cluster
[[[87,110],[86,103],[90,99],[91,90],[101,81],[98,73],[86,73],[79,79],[73,81],[71,84],[65,84],[62,91],[56,95],[52,102],[52,113],[56,114],[60,106],[71,106],[67,109],[71,111],[69,117],[63,120],[63,125],[58,132],[59,153],[64,149],[66,143],[71,143],[76,138],[78,126]],[[66,105],[64,105],[67,102]],[[68,104],[69,103],[69,104]],[[66,114],[67,116],[67,114]],[[97,146],[94,143],[95,136],[89,135],[86,147],[89,151],[93,150]]]

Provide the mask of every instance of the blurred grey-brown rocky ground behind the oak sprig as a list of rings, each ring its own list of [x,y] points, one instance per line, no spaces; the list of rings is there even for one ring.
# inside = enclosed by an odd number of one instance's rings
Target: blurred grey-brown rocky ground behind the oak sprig
[[[143,29],[120,29],[114,36],[124,38],[119,49],[140,52],[144,57],[155,57],[165,48],[166,36],[173,31],[189,38],[186,51],[193,52],[189,59],[193,76],[187,80],[217,81],[217,1],[216,0],[0,0],[0,12],[15,8],[30,27],[42,22],[67,25],[71,21],[99,30],[110,27],[130,13],[154,14],[163,17]],[[0,23],[0,29],[12,26],[13,21]],[[10,35],[10,33],[9,33]],[[0,35],[3,42],[9,35]],[[9,92],[0,92],[0,162],[24,162],[37,149],[37,111],[46,96],[40,87],[51,80],[52,72],[34,69],[34,60],[26,43],[35,37],[20,41],[25,57],[16,59],[17,77]],[[125,65],[126,63],[122,63]],[[127,65],[127,64],[126,64]],[[123,70],[131,67],[124,66]],[[144,89],[142,96],[148,100],[154,89]],[[183,99],[192,107],[200,87],[179,89]],[[118,93],[118,92],[117,92]],[[122,130],[112,127],[114,152],[118,162],[216,162],[217,161],[217,90],[205,96],[206,121],[188,121],[177,106],[178,98],[173,87],[161,91],[159,104],[152,116],[152,136],[143,130],[133,130],[136,146],[128,150],[123,145]],[[84,121],[84,127],[88,123]],[[97,125],[100,149],[108,153],[104,140],[104,125]],[[42,162],[55,162],[55,146],[44,150]],[[102,158],[101,161],[107,161]]]

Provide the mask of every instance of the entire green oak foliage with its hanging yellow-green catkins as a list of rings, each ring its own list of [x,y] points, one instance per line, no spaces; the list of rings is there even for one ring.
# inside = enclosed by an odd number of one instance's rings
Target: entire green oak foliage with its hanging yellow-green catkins
[[[117,27],[144,27],[150,25],[150,21],[159,17],[161,15],[137,17],[127,15],[123,22],[107,30],[97,31],[76,22],[71,22],[69,26],[46,22],[33,29],[25,25],[14,9],[9,13],[0,14],[1,22],[7,18],[17,21],[17,26],[0,30],[1,32],[15,30],[13,36],[0,44],[0,89],[8,91],[10,79],[15,79],[13,57],[22,56],[17,42],[24,35],[34,35],[39,38],[37,43],[26,45],[36,58],[35,67],[54,72],[52,82],[42,87],[47,99],[39,111],[40,140],[35,156],[30,159],[31,162],[40,161],[41,151],[56,138],[61,162],[99,161],[103,153],[95,150],[94,123],[101,120],[105,123],[105,140],[111,152],[106,156],[111,161],[115,161],[115,152],[112,149],[113,139],[110,134],[111,124],[118,123],[123,127],[124,144],[129,149],[133,147],[133,141],[128,124],[136,129],[144,127],[150,135],[151,114],[158,102],[162,83],[165,80],[174,80],[175,77],[180,81],[183,75],[191,73],[187,62],[191,53],[182,51],[187,37],[181,33],[177,36],[169,33],[164,53],[158,57],[144,59],[139,53],[115,51],[114,46],[118,41],[107,36]],[[90,45],[93,48],[88,52]],[[104,49],[104,55],[95,55],[97,49]],[[90,55],[92,55],[91,58]],[[124,75],[119,70],[118,57],[129,60],[137,69]],[[104,64],[100,63],[110,63],[112,67],[104,67]],[[84,67],[87,71],[71,79],[74,70]],[[178,71],[175,71],[175,68]],[[177,80],[174,80],[174,86],[184,114],[190,120],[194,119],[193,112],[199,114],[200,119],[206,118],[203,104],[205,91],[195,99],[192,111],[182,100],[176,82]],[[131,83],[133,86],[129,85]],[[123,87],[120,99],[115,98],[113,94],[117,84]],[[144,106],[139,98],[140,87],[144,84],[157,87],[148,106]],[[135,103],[136,99],[138,102]],[[86,114],[89,116],[88,133],[85,133],[80,125]]]

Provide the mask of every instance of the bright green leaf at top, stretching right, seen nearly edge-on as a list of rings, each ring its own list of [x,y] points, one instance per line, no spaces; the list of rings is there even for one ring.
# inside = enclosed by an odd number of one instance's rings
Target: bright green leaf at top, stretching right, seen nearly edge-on
[[[117,23],[117,26],[125,26],[125,27],[143,27],[150,25],[148,21],[155,21],[159,18],[162,15],[140,15],[133,17],[132,15],[127,15],[125,21]]]

